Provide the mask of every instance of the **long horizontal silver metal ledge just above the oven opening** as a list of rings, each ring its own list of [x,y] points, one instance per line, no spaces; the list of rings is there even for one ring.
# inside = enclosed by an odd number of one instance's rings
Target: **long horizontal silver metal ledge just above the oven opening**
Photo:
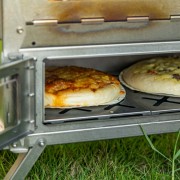
[[[178,53],[180,41],[169,42],[141,42],[123,44],[77,45],[63,47],[21,48],[19,52],[24,56],[36,57],[38,61],[44,59],[69,59],[108,56],[150,55],[164,53]]]

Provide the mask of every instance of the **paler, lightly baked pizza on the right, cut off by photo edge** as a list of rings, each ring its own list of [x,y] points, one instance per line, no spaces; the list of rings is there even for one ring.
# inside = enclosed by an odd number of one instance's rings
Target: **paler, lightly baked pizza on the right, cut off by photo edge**
[[[124,85],[146,93],[180,96],[180,58],[157,57],[121,72]]]

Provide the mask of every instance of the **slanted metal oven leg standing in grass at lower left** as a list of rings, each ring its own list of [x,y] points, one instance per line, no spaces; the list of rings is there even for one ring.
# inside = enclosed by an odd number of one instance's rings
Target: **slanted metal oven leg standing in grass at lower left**
[[[38,141],[27,153],[21,153],[18,155],[15,163],[7,173],[5,180],[23,180],[28,172],[37,161],[46,145],[43,141]]]

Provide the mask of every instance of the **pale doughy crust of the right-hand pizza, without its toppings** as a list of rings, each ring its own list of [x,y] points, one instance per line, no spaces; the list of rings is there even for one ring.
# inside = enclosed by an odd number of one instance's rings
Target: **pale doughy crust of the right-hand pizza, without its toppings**
[[[134,73],[140,65],[143,65],[148,60],[144,60],[133,64],[132,66],[124,69],[121,73],[122,80],[130,88],[150,93],[150,94],[162,94],[170,96],[180,96],[180,82],[173,79],[163,79],[158,75],[153,74],[138,74]]]

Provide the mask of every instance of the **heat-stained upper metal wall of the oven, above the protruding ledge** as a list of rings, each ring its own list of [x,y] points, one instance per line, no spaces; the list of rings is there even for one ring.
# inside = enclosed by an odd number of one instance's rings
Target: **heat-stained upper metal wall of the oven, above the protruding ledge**
[[[180,40],[179,0],[2,2],[4,56],[27,48]]]

